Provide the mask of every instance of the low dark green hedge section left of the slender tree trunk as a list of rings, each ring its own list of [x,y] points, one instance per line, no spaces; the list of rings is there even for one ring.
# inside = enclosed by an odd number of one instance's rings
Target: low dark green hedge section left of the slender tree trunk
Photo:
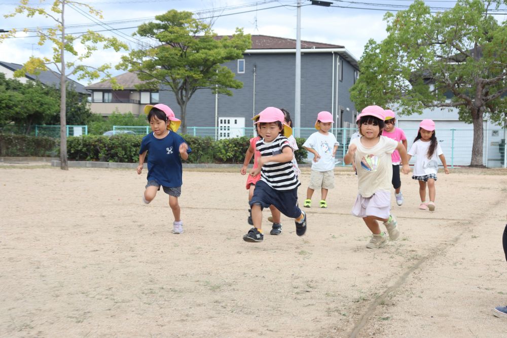
[[[58,142],[44,136],[0,134],[0,156],[52,157],[58,154]]]

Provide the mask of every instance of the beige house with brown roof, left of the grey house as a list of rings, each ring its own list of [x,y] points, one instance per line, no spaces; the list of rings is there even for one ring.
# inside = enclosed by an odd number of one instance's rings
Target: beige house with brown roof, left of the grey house
[[[142,84],[135,72],[126,72],[115,77],[122,90],[113,90],[111,81],[102,81],[86,86],[91,92],[90,109],[95,114],[109,116],[115,111],[122,114],[131,112],[134,116],[142,114],[145,104],[159,103],[159,92],[138,91],[135,86]]]

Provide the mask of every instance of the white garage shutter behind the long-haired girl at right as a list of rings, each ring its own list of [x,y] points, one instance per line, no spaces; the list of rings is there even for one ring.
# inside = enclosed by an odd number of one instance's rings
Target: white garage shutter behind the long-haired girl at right
[[[403,129],[407,136],[408,148],[414,142],[421,120],[398,120],[396,125]],[[468,166],[472,160],[472,144],[474,143],[474,126],[461,121],[435,121],[435,132],[442,147],[448,166]],[[483,122],[483,164],[487,163],[488,122]],[[410,160],[415,163],[414,159]]]

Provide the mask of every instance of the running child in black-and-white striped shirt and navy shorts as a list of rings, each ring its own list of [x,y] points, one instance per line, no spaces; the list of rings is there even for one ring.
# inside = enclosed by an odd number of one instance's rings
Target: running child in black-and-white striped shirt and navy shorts
[[[262,242],[262,209],[275,206],[287,217],[295,218],[296,234],[306,232],[306,214],[298,207],[298,186],[301,185],[293,169],[294,151],[288,144],[287,136],[292,128],[284,122],[283,112],[275,107],[267,107],[259,114],[262,138],[256,148],[261,153],[259,166],[252,169],[251,176],[261,173],[250,201],[253,228],[243,240]]]

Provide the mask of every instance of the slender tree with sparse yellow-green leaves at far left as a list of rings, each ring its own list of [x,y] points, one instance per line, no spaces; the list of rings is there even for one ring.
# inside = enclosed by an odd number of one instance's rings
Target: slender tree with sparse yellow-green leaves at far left
[[[44,0],[41,0],[41,2]],[[21,0],[20,5],[12,14],[7,14],[4,17],[13,17],[18,14],[26,13],[26,16],[33,17],[35,15],[42,15],[55,21],[56,27],[47,30],[37,29],[36,33],[39,36],[39,45],[42,46],[46,43],[53,45],[53,55],[51,58],[36,58],[30,59],[23,65],[22,69],[16,70],[14,73],[17,77],[23,77],[26,72],[37,74],[41,70],[51,70],[48,65],[53,65],[57,71],[57,76],[60,78],[60,168],[68,170],[67,163],[67,133],[66,133],[66,79],[68,76],[78,74],[78,80],[85,78],[97,79],[100,73],[105,73],[106,76],[111,77],[106,71],[110,68],[109,64],[104,64],[100,67],[90,67],[80,64],[83,60],[92,56],[93,52],[98,49],[101,44],[102,48],[113,48],[116,52],[121,49],[127,50],[127,46],[118,41],[114,37],[105,37],[101,34],[88,30],[86,33],[74,36],[65,33],[65,10],[66,7],[73,9],[85,8],[90,15],[102,18],[100,11],[93,9],[91,6],[73,2],[69,0],[54,0],[51,10],[47,11],[42,7],[28,6],[28,0]],[[28,29],[24,29],[28,31]],[[7,33],[0,34],[0,43],[10,36],[14,36],[16,30],[13,29]],[[83,53],[79,53],[75,48],[75,44],[80,41]],[[72,55],[74,60],[65,62],[66,55]]]

